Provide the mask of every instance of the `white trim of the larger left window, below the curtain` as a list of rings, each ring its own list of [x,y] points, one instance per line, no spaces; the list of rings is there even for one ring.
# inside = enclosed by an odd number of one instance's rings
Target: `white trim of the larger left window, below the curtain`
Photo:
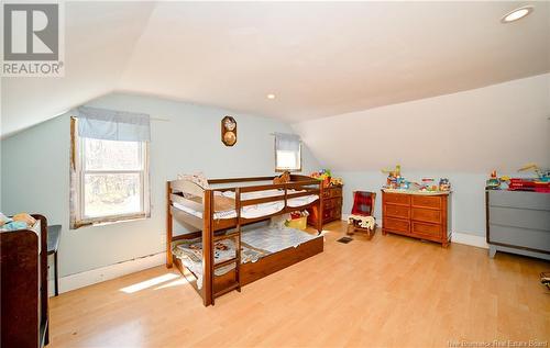
[[[76,131],[75,133],[77,133]],[[77,156],[76,158],[76,206],[75,206],[75,225],[76,226],[85,226],[85,225],[102,225],[102,224],[109,224],[109,223],[118,223],[118,222],[124,222],[124,221],[133,221],[133,220],[141,220],[141,218],[146,218],[151,216],[151,193],[150,193],[150,150],[148,150],[148,143],[147,142],[140,142],[140,147],[143,154],[143,170],[88,170],[86,171],[84,169],[84,158],[85,158],[85,153],[84,153],[84,138],[78,136],[78,134],[75,134],[75,155]],[[96,217],[86,217],[84,215],[84,202],[85,202],[85,194],[84,194],[84,177],[86,172],[94,172],[94,173],[124,173],[124,172],[139,172],[140,173],[140,180],[142,181],[142,187],[143,190],[141,192],[142,197],[140,200],[140,212],[138,213],[131,213],[131,214],[113,214],[113,215],[103,215],[103,216],[96,216]]]

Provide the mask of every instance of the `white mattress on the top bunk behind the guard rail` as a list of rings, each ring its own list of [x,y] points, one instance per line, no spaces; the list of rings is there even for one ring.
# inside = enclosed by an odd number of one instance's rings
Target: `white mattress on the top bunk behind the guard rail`
[[[299,193],[304,191],[296,191],[296,190],[288,190],[287,193]],[[235,198],[235,193],[233,191],[224,191],[221,192],[223,197],[227,198]],[[275,195],[282,195],[284,194],[283,190],[265,190],[265,191],[254,191],[254,192],[245,192],[241,194],[241,201],[248,201],[248,200],[255,200],[255,199],[261,199],[261,198],[268,198],[268,197],[275,197]],[[319,199],[319,195],[317,194],[309,194],[309,195],[302,195],[302,197],[297,197],[297,198],[292,198],[288,199],[287,205],[292,207],[299,207],[304,206],[307,204],[310,204],[315,202],[316,200]],[[186,206],[184,204],[174,202],[174,206],[189,213],[191,215],[195,215],[199,218],[202,218],[202,212],[194,210],[193,207]],[[254,205],[246,205],[241,207],[241,217],[243,218],[257,218],[262,216],[268,216],[272,214],[276,214],[280,212],[285,207],[285,201],[274,201],[274,202],[267,202],[267,203],[260,203],[260,204],[254,204]],[[220,211],[220,212],[215,212],[213,218],[220,220],[220,218],[234,218],[237,217],[237,211],[233,210],[227,210],[227,211]]]

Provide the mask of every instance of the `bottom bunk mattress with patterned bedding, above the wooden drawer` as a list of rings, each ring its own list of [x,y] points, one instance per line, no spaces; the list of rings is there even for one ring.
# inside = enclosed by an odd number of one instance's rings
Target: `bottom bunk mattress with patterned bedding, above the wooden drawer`
[[[288,249],[322,236],[311,235],[295,228],[265,226],[241,233],[241,263],[255,262],[261,258]],[[198,289],[202,288],[202,238],[177,240],[172,251],[175,257],[197,278]],[[235,256],[233,239],[215,243],[215,262],[223,262]],[[215,270],[216,276],[223,276],[234,268],[228,265]]]

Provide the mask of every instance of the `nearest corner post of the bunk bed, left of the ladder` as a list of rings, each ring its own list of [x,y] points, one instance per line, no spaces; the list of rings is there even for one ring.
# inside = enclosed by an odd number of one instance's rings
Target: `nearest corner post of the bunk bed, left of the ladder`
[[[205,190],[205,211],[202,212],[202,302],[213,304],[213,250],[212,250],[212,205],[213,191]]]

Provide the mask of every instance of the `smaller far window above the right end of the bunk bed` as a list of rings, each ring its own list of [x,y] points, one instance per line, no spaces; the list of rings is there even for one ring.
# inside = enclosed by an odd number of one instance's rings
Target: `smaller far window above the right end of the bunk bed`
[[[301,170],[301,142],[295,134],[275,134],[275,170]]]

